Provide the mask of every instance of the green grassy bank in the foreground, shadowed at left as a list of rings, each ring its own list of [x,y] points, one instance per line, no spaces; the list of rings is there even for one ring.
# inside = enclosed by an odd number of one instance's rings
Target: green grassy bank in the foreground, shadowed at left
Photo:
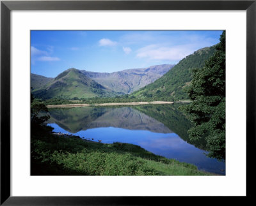
[[[88,142],[53,135],[47,127],[33,130],[31,175],[211,175],[137,145]]]

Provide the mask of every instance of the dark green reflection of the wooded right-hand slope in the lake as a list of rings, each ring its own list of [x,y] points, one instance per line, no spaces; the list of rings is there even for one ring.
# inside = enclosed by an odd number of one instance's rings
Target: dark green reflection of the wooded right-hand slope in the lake
[[[140,105],[135,106],[136,110],[147,114],[150,117],[154,117],[159,122],[162,122],[166,127],[171,129],[183,140],[195,145],[200,149],[206,149],[205,140],[200,142],[191,142],[188,136],[188,129],[193,126],[193,123],[178,110],[180,105]]]

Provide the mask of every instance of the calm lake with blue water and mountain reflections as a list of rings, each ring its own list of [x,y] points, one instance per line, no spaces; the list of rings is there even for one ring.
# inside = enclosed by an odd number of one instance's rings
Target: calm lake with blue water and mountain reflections
[[[147,151],[196,165],[199,170],[225,175],[225,163],[208,158],[205,142],[191,143],[191,122],[179,105],[51,108],[53,131],[102,143],[140,145]]]

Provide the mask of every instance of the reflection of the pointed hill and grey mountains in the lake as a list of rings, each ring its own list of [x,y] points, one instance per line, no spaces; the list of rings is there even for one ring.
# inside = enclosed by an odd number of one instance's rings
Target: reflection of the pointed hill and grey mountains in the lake
[[[106,127],[172,133],[163,123],[130,107],[54,108],[50,109],[49,113],[49,123],[54,122],[71,133]]]

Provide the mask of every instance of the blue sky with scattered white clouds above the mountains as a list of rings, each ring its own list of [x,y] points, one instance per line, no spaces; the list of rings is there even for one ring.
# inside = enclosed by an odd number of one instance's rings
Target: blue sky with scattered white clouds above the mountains
[[[222,31],[31,31],[31,73],[56,77],[68,68],[113,72],[177,64],[220,42]]]

